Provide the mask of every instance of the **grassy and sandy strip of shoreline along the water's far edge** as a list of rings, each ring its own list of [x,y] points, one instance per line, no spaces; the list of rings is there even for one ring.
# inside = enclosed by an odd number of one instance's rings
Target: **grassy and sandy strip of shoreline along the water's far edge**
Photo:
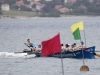
[[[60,17],[100,17],[100,14],[96,13],[65,13],[59,14]],[[47,18],[48,16],[44,14],[38,14],[36,12],[25,12],[25,11],[2,11],[2,15],[0,15],[1,19],[27,19],[27,18]],[[51,18],[52,16],[50,16]],[[53,17],[53,18],[59,18]]]

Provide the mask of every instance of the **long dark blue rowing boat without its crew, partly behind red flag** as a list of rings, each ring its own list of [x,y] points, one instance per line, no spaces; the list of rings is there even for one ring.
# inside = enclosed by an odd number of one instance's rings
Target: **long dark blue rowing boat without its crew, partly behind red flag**
[[[42,54],[40,52],[31,52],[31,51],[25,51],[25,53],[30,54],[35,54],[36,57],[42,57]],[[92,47],[88,47],[83,49],[83,53],[84,53],[84,58],[88,58],[88,59],[94,59],[95,58],[95,46]],[[82,50],[76,50],[76,51],[66,51],[66,52],[61,52],[61,53],[56,53],[56,54],[52,54],[49,55],[48,57],[56,57],[56,58],[83,58],[83,54],[82,54]]]

